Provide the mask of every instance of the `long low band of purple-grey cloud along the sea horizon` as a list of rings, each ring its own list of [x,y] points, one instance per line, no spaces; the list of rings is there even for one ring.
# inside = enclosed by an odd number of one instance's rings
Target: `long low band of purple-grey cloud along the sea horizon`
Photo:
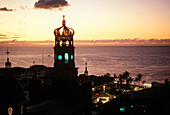
[[[74,40],[75,46],[170,46],[170,39],[103,39],[103,40]],[[51,47],[54,40],[3,40],[0,47]]]

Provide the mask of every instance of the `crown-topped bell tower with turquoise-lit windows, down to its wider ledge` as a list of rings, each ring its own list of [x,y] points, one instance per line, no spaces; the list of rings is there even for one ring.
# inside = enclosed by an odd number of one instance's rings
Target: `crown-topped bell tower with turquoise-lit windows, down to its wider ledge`
[[[75,68],[74,63],[74,30],[66,26],[63,15],[62,26],[54,30],[54,68]]]

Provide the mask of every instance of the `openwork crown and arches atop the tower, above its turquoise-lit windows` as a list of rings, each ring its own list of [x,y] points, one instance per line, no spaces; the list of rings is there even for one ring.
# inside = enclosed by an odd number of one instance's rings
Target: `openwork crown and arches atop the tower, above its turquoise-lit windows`
[[[62,26],[54,30],[55,46],[73,46],[74,30],[66,26],[65,16],[63,15]]]

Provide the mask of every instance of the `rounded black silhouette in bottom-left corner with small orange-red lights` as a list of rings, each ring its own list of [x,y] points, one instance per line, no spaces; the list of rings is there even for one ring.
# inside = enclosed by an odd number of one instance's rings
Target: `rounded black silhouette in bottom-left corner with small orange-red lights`
[[[0,114],[22,115],[26,109],[24,91],[9,69],[0,71]]]

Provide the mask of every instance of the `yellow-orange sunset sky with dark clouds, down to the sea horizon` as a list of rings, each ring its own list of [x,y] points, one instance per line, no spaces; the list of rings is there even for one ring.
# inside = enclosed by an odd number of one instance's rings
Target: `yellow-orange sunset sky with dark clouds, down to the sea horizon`
[[[63,15],[79,45],[170,46],[170,0],[0,0],[0,46],[51,45]]]

